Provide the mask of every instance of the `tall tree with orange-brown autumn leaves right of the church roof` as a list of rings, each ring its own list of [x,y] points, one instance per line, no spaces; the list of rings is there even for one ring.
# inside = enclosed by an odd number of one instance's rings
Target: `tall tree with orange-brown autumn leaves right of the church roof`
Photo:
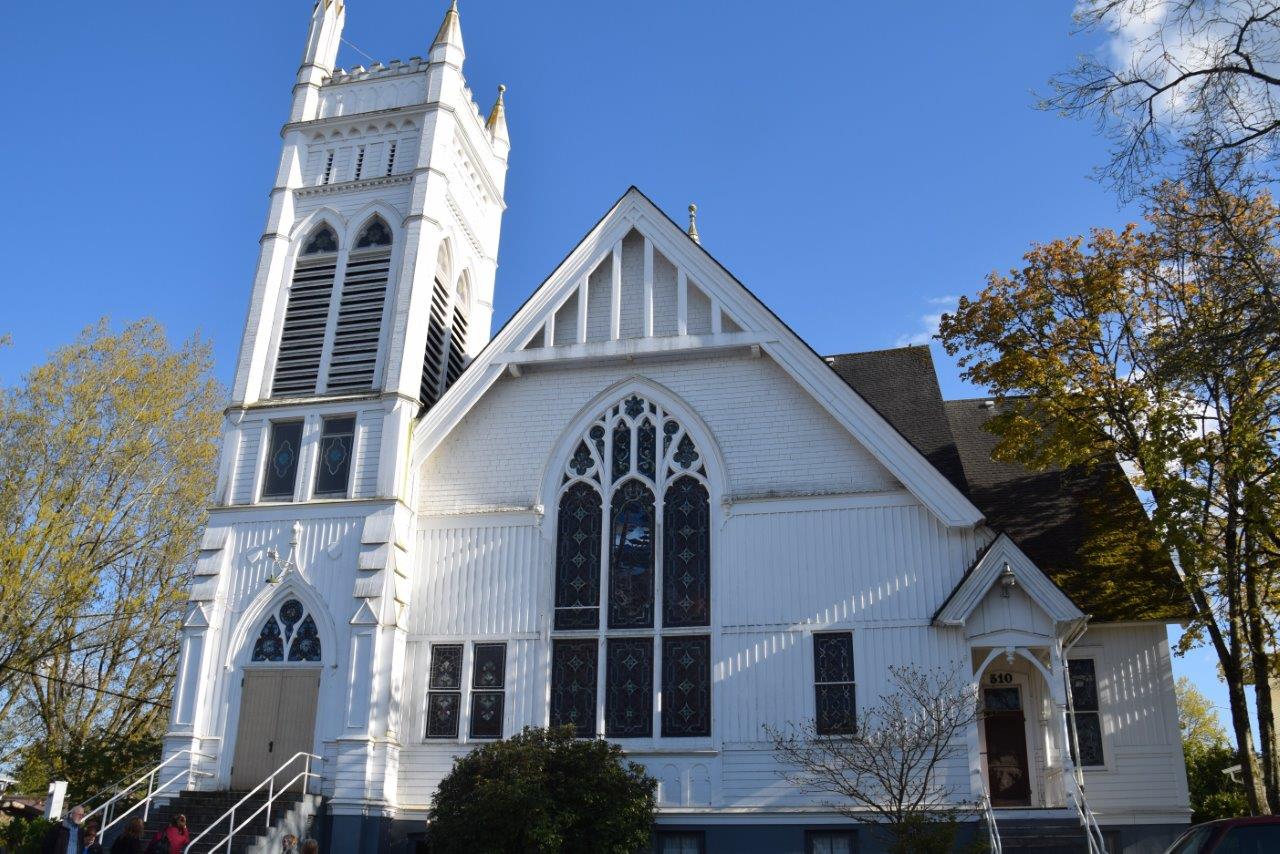
[[[1146,219],[1034,246],[963,298],[941,338],[968,380],[1007,402],[989,421],[997,456],[1132,467],[1194,606],[1188,638],[1207,638],[1221,663],[1249,805],[1268,812],[1270,694],[1257,693],[1260,775],[1245,685],[1267,684],[1274,645],[1280,209],[1208,172],[1161,184]]]

